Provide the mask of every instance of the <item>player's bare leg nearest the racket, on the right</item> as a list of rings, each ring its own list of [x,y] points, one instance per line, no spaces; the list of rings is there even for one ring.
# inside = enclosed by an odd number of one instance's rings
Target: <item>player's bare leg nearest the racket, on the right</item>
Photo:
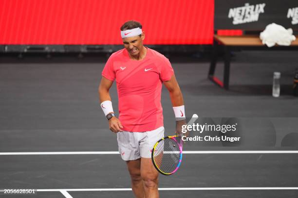
[[[151,158],[141,158],[141,177],[146,198],[159,198],[158,171],[153,166]]]

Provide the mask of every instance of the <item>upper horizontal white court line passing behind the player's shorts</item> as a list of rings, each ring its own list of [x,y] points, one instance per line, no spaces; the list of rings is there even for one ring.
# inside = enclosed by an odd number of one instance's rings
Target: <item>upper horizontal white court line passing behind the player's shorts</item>
[[[185,150],[183,154],[246,154],[246,153],[298,153],[298,150]],[[0,155],[109,155],[118,151],[87,152],[0,152]]]

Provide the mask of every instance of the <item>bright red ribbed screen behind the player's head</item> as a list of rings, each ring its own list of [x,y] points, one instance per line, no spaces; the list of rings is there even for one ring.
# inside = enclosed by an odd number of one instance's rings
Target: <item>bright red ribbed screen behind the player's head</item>
[[[214,0],[0,0],[0,44],[122,44],[142,23],[145,44],[211,44]]]

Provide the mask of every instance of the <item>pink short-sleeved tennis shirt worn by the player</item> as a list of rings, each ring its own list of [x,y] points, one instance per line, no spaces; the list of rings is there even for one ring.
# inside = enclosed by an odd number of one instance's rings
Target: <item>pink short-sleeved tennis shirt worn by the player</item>
[[[168,59],[153,49],[147,48],[141,61],[131,60],[126,49],[110,56],[102,76],[116,80],[119,120],[124,131],[148,132],[164,126],[162,82],[173,74]]]

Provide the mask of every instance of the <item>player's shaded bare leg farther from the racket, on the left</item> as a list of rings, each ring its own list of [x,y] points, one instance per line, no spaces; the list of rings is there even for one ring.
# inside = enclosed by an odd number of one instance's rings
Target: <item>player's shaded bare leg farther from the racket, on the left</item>
[[[145,198],[144,184],[141,178],[141,158],[126,161],[126,164],[130,172],[131,187],[135,197]]]

